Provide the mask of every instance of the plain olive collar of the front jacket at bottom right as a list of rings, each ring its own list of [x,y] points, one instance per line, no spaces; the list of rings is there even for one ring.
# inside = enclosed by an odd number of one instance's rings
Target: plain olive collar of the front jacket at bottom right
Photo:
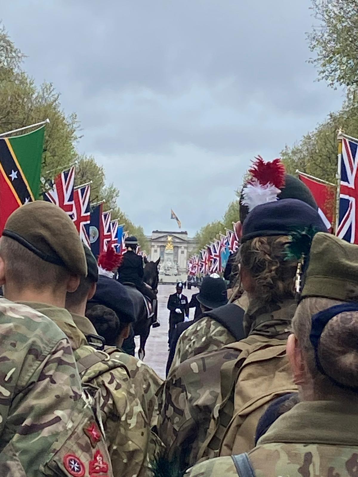
[[[358,446],[358,398],[348,401],[305,401],[280,416],[257,443]]]

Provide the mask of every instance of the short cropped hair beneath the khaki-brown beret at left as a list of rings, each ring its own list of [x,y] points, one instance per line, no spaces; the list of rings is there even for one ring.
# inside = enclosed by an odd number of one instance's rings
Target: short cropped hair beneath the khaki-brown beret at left
[[[0,257],[5,262],[7,280],[20,289],[55,290],[70,277],[65,268],[40,259],[9,237],[0,239]]]

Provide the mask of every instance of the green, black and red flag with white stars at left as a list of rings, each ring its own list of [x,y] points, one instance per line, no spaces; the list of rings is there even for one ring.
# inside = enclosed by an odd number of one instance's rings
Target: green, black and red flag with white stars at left
[[[44,130],[0,137],[0,233],[14,210],[39,197]]]

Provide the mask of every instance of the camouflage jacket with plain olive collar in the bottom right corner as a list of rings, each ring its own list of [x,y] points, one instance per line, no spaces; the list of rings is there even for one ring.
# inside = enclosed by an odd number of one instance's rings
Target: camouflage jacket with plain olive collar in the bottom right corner
[[[257,477],[356,477],[358,402],[310,401],[282,415],[248,453]],[[232,457],[206,460],[186,477],[238,477]]]

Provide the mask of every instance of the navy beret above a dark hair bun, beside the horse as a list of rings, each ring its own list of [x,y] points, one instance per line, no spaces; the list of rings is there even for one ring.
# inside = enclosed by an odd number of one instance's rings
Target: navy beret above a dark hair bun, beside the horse
[[[113,278],[98,277],[95,295],[88,301],[87,308],[92,308],[94,304],[105,305],[115,311],[121,323],[135,321],[133,302],[126,287]]]

